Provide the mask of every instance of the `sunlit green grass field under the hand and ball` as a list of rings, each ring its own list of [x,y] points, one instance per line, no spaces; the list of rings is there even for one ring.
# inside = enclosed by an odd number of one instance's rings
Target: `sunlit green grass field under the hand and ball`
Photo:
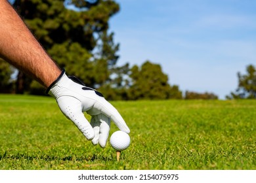
[[[0,95],[0,169],[256,169],[256,100],[112,104],[131,129],[119,162],[109,141],[93,146],[53,98]]]

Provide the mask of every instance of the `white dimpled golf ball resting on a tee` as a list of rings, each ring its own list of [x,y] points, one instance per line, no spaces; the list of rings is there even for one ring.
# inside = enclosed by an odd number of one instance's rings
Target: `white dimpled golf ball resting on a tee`
[[[130,141],[130,136],[124,131],[115,131],[110,137],[110,144],[117,151],[127,149]]]

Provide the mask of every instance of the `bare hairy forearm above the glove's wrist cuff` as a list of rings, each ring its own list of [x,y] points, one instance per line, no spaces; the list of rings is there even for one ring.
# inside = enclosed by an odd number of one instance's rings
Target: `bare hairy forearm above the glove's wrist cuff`
[[[0,56],[45,87],[60,75],[60,69],[5,0],[0,0]]]

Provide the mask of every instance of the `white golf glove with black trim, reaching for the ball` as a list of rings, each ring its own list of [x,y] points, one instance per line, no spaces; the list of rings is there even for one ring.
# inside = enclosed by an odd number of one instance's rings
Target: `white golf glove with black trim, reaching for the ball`
[[[47,93],[56,99],[62,113],[95,145],[106,146],[110,119],[121,131],[130,132],[119,112],[104,99],[102,93],[85,86],[74,76],[66,76],[64,70],[49,86]],[[92,116],[91,124],[83,112]]]

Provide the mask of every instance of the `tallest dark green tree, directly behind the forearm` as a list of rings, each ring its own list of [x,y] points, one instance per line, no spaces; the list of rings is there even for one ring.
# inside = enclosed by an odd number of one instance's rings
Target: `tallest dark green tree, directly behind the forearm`
[[[119,48],[114,44],[114,33],[108,33],[108,21],[119,11],[116,2],[16,0],[14,5],[38,41],[68,75],[75,75],[94,88],[109,79],[109,69],[116,64]],[[77,8],[70,10],[69,5]],[[22,76],[17,83],[25,80]],[[32,81],[26,82],[30,85]]]

